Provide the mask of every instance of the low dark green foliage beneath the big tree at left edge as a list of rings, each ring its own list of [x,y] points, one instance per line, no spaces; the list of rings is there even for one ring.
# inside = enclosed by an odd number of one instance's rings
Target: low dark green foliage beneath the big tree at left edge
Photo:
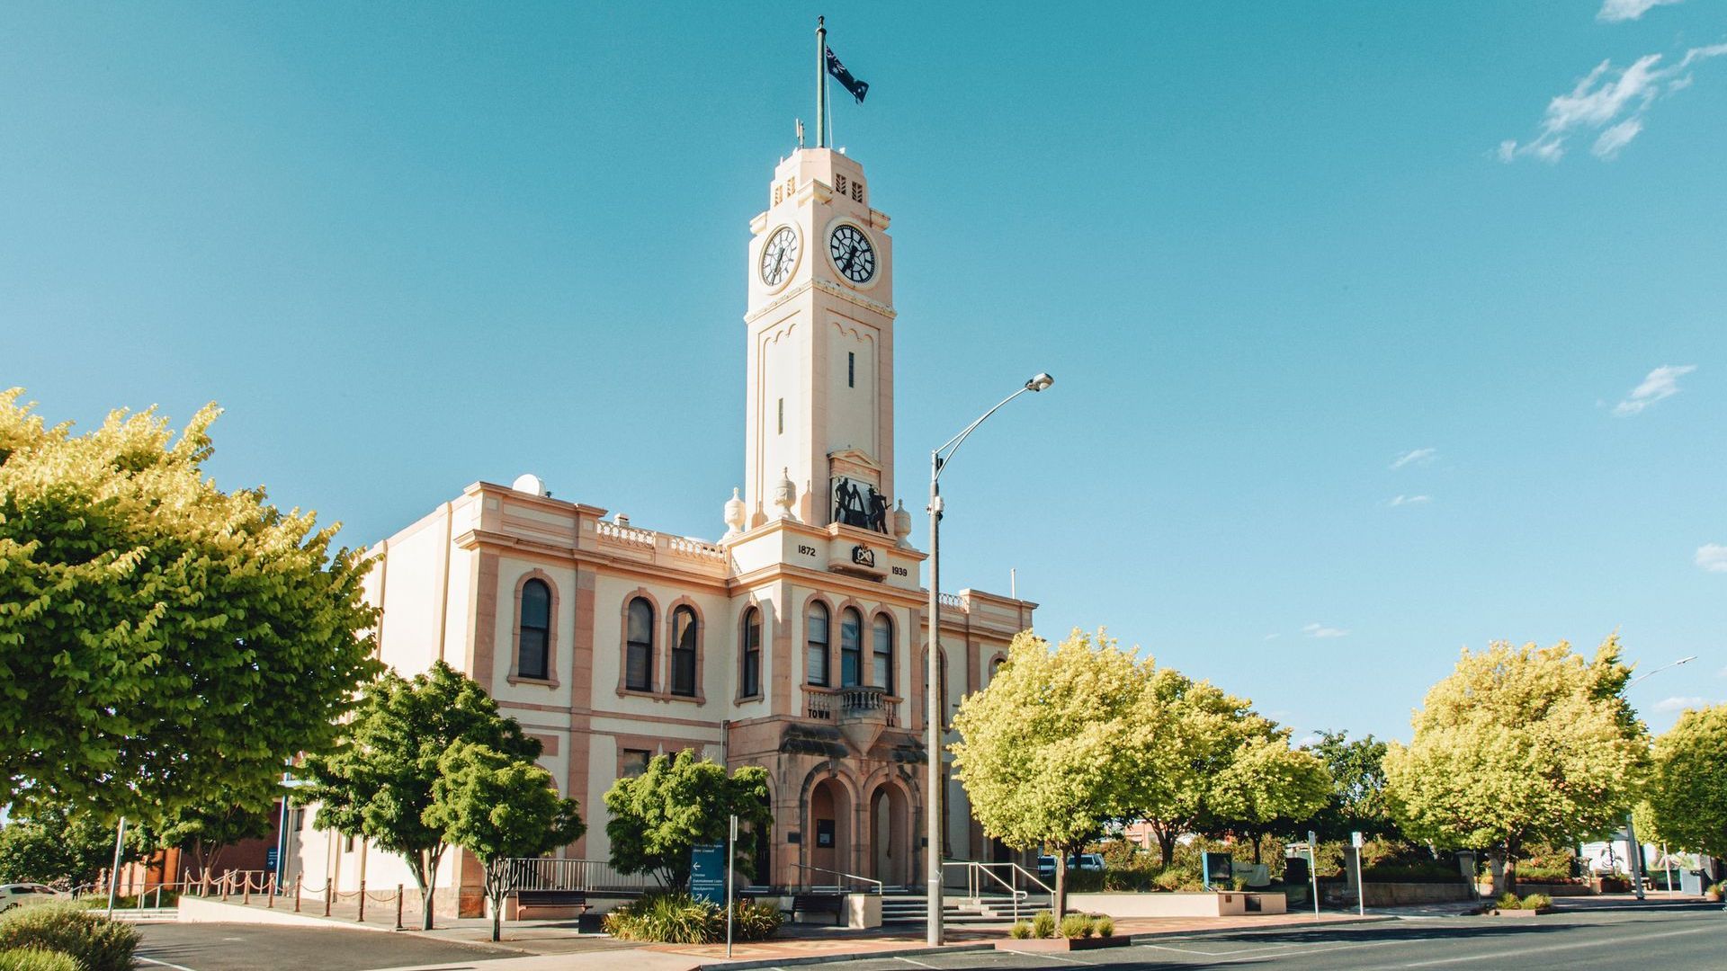
[[[93,812],[35,805],[0,826],[0,883],[93,885],[114,864],[114,835]],[[147,836],[128,828],[121,862],[138,859],[147,845]]]

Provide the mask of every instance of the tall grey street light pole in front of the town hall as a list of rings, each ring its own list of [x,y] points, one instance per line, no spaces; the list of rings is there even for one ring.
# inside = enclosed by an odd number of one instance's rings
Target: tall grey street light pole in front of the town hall
[[[941,945],[941,828],[945,822],[945,795],[941,791],[941,470],[953,460],[953,453],[965,444],[967,435],[983,425],[984,418],[995,415],[1003,404],[1014,401],[1028,390],[1043,390],[1055,384],[1047,373],[1033,375],[1014,394],[1003,397],[995,408],[984,411],[976,422],[948,439],[941,447],[929,453],[929,657],[924,665],[924,746],[929,753],[929,772],[924,786],[924,876],[927,879],[929,933],[926,942],[931,947]]]

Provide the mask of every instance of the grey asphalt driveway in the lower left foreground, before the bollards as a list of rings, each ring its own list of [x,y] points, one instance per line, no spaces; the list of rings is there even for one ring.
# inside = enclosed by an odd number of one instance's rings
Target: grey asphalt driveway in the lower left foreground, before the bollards
[[[140,924],[138,971],[364,971],[414,964],[471,966],[508,952],[409,933],[269,924]]]

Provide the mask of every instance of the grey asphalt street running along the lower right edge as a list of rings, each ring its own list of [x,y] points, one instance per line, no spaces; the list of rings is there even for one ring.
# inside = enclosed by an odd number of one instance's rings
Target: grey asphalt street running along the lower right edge
[[[1705,907],[1592,911],[1534,919],[1444,917],[1295,931],[1157,938],[1060,955],[1005,952],[895,957],[824,964],[822,971],[1197,969],[1252,966],[1275,971],[1649,971],[1727,968],[1727,914]]]

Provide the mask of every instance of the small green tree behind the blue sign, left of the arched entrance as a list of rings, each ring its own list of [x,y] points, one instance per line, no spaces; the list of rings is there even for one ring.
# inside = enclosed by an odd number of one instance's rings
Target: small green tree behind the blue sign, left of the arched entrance
[[[753,855],[756,833],[774,821],[767,769],[743,765],[727,777],[725,767],[689,748],[675,758],[655,755],[641,776],[613,783],[604,800],[611,866],[651,873],[667,890],[689,886],[691,850],[725,840],[731,816],[739,822],[739,859]]]

